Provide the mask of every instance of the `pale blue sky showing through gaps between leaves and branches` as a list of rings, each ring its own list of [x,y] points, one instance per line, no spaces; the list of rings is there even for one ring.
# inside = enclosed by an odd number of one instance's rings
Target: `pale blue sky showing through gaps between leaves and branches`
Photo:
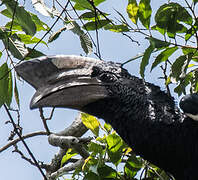
[[[152,1],[152,0],[151,0]],[[49,2],[49,0],[46,2]],[[63,1],[66,2],[66,1]],[[152,8],[155,9],[159,7],[160,4],[165,2],[165,0],[153,0]],[[115,13],[113,9],[118,10],[123,13],[125,17],[126,15],[126,6],[127,0],[106,0],[105,3],[99,6],[99,9],[112,13],[112,17],[118,15]],[[32,7],[30,1],[25,1],[25,7],[28,7],[31,12],[38,14]],[[3,8],[0,7],[0,10]],[[51,19],[49,17],[44,17],[42,15],[39,16],[41,20],[46,22],[47,24],[52,24],[55,19]],[[0,15],[0,25],[4,25],[6,19],[4,16]],[[56,25],[55,29],[61,28],[62,23]],[[54,30],[55,30],[54,29]],[[95,32],[92,33],[92,37],[94,37]],[[100,39],[100,50],[102,58],[105,60],[111,60],[116,62],[125,62],[128,59],[136,56],[138,53],[144,52],[145,48],[148,47],[148,42],[142,36],[135,35],[133,38],[140,42],[141,46],[137,46],[136,43],[132,43],[125,36],[118,35],[116,33],[107,32],[105,30],[99,31],[99,39]],[[45,39],[46,40],[46,39]],[[46,40],[47,41],[47,40]],[[0,43],[0,50],[3,50],[3,45]],[[49,44],[49,48],[40,44],[37,46],[37,49],[42,51],[47,55],[55,55],[55,54],[75,54],[80,55],[84,54],[81,47],[80,41],[76,35],[67,31],[61,34],[58,40]],[[92,55],[93,56],[93,55]],[[94,57],[94,56],[93,56]],[[3,59],[0,60],[0,65],[2,64]],[[125,66],[129,72],[135,76],[139,76],[139,61],[140,59],[134,61],[133,63],[129,63]],[[148,73],[149,71],[147,71]],[[162,81],[159,80],[159,73],[161,71],[154,70],[151,75],[146,76],[146,80],[152,82],[154,84],[160,85],[162,90],[165,90]],[[25,82],[18,82],[19,92],[20,92],[20,102],[21,102],[21,126],[23,127],[23,134],[27,134],[34,131],[43,130],[43,125],[41,119],[39,117],[38,110],[30,110],[29,102],[31,97],[34,94],[34,89]],[[77,115],[77,111],[68,110],[68,109],[56,109],[53,119],[48,122],[50,129],[54,132],[60,131],[63,127],[68,126]],[[16,114],[13,113],[13,117],[16,120]],[[10,130],[12,130],[12,126],[10,124],[5,125],[5,122],[9,120],[5,110],[3,108],[0,109],[0,147],[4,146],[7,143],[7,138],[10,134]],[[54,153],[57,152],[58,148],[52,147],[47,142],[47,137],[38,136],[36,138],[31,138],[26,140],[28,146],[31,148],[35,157],[44,161],[45,163],[50,162],[51,158],[54,156]],[[24,150],[23,146],[19,144],[19,148]],[[31,166],[25,160],[22,160],[19,154],[12,153],[13,148],[0,153],[0,171],[1,171],[1,179],[11,180],[11,179],[20,179],[20,180],[39,180],[43,179],[41,174],[37,170],[36,167]],[[26,152],[24,150],[23,152]]]

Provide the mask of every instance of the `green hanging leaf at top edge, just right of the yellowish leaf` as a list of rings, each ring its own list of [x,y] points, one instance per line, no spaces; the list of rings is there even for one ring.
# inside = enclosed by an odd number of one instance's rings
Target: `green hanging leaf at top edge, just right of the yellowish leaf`
[[[139,3],[138,17],[147,29],[149,29],[150,26],[151,13],[150,0],[141,0]]]

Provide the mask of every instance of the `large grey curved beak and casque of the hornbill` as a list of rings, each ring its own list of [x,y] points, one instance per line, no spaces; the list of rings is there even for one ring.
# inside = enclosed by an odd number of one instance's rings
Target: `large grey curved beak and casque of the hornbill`
[[[16,71],[35,89],[30,108],[67,107],[81,110],[107,97],[100,80],[91,77],[93,66],[103,61],[81,56],[45,56],[24,61]]]

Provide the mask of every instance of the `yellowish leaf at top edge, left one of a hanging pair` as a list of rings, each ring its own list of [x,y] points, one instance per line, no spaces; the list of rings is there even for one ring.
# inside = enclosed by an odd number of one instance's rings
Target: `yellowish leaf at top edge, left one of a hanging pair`
[[[138,5],[136,0],[128,0],[127,13],[129,18],[134,24],[137,24],[138,19]]]

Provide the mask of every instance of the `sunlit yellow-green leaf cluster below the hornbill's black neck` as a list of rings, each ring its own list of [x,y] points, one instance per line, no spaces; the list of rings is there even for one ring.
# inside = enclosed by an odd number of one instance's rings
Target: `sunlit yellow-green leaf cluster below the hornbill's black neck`
[[[128,147],[120,136],[113,131],[109,124],[100,124],[95,117],[82,113],[82,122],[91,130],[94,141],[85,145],[90,156],[84,164],[77,168],[72,179],[101,180],[101,179],[137,179],[137,173],[142,171],[141,179],[168,179],[166,173],[156,166],[147,163]],[[68,149],[61,165],[71,161],[77,153]]]

